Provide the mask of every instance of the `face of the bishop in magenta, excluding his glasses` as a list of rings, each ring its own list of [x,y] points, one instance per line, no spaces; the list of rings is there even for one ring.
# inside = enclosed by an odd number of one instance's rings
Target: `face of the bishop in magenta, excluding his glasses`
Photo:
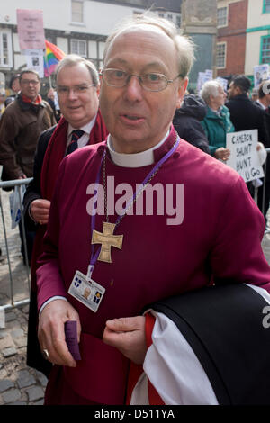
[[[179,73],[173,40],[148,25],[121,32],[108,49],[104,68],[136,76],[159,73],[167,79]],[[101,112],[118,152],[135,153],[157,145],[166,135],[187,85],[187,80],[176,78],[165,90],[152,92],[143,89],[136,76],[121,88],[108,86],[103,79],[101,83]]]

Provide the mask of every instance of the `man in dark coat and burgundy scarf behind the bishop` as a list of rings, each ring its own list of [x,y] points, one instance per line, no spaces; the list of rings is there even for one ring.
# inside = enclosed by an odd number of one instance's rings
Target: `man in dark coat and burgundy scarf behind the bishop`
[[[107,135],[99,111],[99,76],[94,64],[69,55],[57,68],[57,91],[62,118],[40,135],[34,160],[33,180],[23,198],[25,223],[36,230],[31,260],[31,302],[28,325],[27,364],[48,375],[51,365],[40,354],[37,338],[37,260],[47,229],[50,201],[62,159],[87,144],[103,141]]]

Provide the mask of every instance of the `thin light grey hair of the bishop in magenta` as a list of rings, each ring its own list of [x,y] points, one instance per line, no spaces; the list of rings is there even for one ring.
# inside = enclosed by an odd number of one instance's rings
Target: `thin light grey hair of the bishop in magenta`
[[[187,76],[193,66],[195,49],[193,41],[184,35],[180,35],[174,23],[167,21],[166,19],[159,18],[156,14],[138,14],[122,20],[106,40],[103,53],[103,63],[105,63],[108,49],[116,36],[122,31],[129,30],[130,28],[134,28],[139,25],[152,25],[157,27],[174,41],[175,49],[177,51],[179,76],[182,78]]]

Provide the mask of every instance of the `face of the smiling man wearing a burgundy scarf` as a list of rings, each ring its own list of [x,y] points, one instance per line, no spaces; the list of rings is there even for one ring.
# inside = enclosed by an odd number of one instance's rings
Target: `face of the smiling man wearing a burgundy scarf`
[[[63,67],[58,72],[57,90],[60,111],[74,127],[80,128],[94,118],[98,110],[98,89],[84,64]]]

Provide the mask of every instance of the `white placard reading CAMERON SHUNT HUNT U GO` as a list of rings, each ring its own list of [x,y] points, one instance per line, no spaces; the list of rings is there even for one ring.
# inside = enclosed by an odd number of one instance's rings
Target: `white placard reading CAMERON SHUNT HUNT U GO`
[[[241,130],[227,134],[230,156],[227,165],[235,169],[245,182],[264,177],[257,154],[257,130]]]

